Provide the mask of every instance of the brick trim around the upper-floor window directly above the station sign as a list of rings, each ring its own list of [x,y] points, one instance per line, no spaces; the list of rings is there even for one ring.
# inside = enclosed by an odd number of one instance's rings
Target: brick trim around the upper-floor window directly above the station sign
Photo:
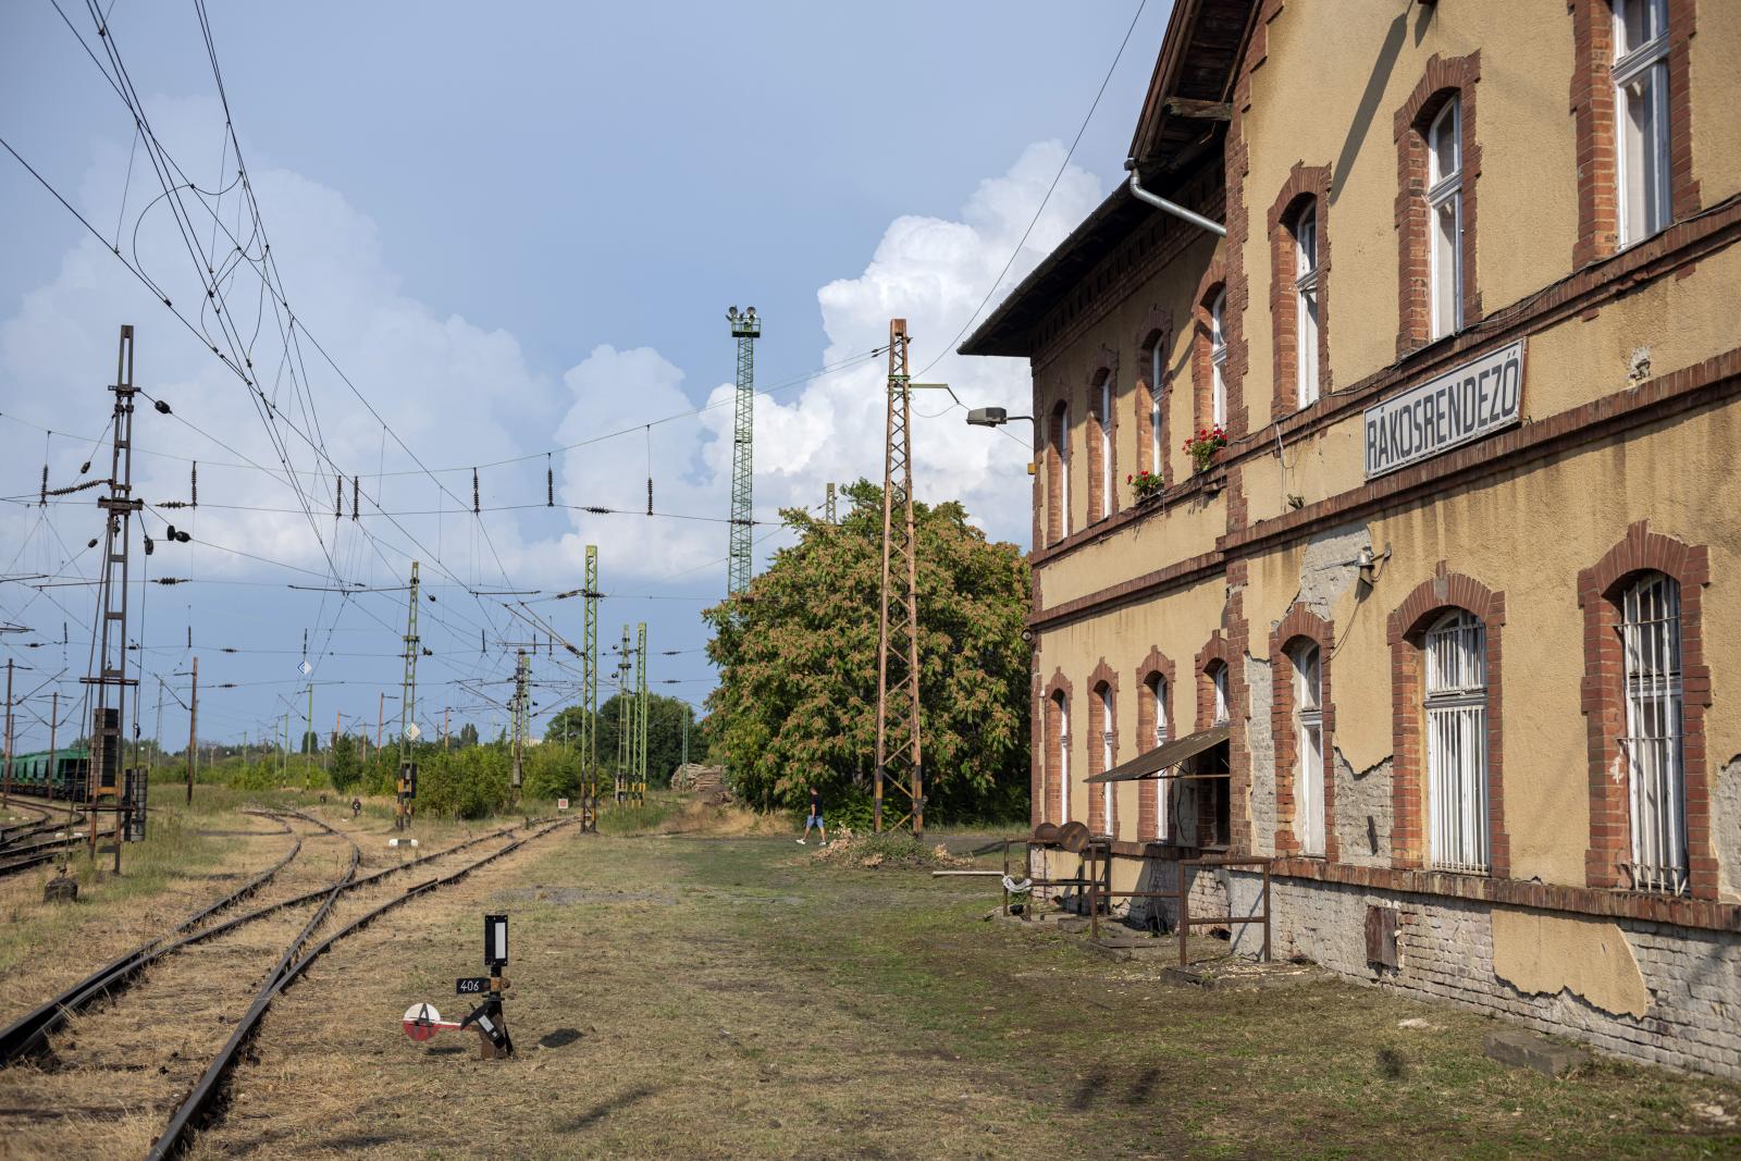
[[[1393,129],[1396,136],[1396,244],[1398,244],[1398,325],[1396,355],[1433,339],[1431,317],[1431,211],[1426,204],[1429,186],[1426,134],[1433,118],[1452,97],[1462,101],[1462,327],[1482,319],[1482,292],[1476,284],[1475,228],[1476,190],[1482,176],[1482,144],[1475,136],[1475,85],[1482,78],[1482,52],[1469,56],[1428,59],[1426,71],[1414,92],[1396,110]]]

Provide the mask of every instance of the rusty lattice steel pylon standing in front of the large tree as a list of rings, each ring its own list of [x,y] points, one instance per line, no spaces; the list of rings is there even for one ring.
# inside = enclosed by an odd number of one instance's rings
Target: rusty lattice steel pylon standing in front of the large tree
[[[876,787],[872,827],[883,830],[883,790],[893,783],[907,811],[890,829],[924,834],[919,747],[919,560],[912,533],[912,383],[907,320],[888,324],[888,435],[883,444],[883,597],[876,663]]]

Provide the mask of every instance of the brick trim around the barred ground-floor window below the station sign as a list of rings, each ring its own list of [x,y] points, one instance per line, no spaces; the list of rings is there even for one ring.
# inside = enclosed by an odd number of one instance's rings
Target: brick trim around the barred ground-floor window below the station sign
[[[1422,644],[1426,630],[1443,613],[1466,609],[1482,621],[1487,646],[1487,848],[1489,876],[1511,874],[1511,837],[1504,808],[1504,623],[1506,595],[1438,562],[1391,611],[1386,639],[1391,648],[1391,865],[1426,867],[1426,715]],[[1443,872],[1435,872],[1443,874]]]

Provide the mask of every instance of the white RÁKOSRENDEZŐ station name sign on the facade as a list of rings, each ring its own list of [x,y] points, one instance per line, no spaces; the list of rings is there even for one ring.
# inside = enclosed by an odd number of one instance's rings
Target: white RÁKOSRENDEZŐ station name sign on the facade
[[[1522,418],[1523,341],[1367,407],[1367,479],[1508,428]]]

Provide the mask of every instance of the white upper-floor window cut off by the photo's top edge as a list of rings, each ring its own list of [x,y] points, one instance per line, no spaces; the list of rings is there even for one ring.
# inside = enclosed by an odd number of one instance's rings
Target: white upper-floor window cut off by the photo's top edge
[[[1668,225],[1668,5],[1614,0],[1621,245]]]

